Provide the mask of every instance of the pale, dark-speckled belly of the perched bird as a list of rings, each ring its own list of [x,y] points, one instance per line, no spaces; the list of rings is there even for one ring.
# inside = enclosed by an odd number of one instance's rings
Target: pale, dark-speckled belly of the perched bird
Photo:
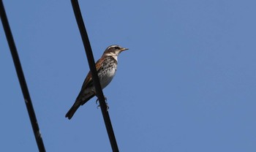
[[[105,88],[106,86],[108,86],[108,84],[111,82],[115,74],[116,74],[116,67],[105,69],[103,72],[99,73],[99,80],[102,88]]]

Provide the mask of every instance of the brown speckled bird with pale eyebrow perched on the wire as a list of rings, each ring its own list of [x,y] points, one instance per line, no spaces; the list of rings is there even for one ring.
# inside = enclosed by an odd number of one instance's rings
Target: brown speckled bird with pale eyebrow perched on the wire
[[[106,48],[102,57],[96,62],[95,66],[98,72],[100,86],[105,88],[113,80],[113,77],[116,74],[117,69],[117,57],[124,50],[128,48],[121,47],[119,45],[110,45]],[[96,95],[94,88],[94,83],[91,78],[91,72],[88,72],[86,79],[83,82],[83,86],[78,94],[78,97],[75,99],[75,103],[69,109],[66,118],[71,119],[75,114],[78,107],[88,102],[92,97]]]

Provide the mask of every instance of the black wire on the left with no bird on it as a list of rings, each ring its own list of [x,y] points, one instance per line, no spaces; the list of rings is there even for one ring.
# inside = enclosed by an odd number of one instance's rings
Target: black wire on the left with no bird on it
[[[29,118],[30,118],[31,125],[32,125],[33,131],[34,131],[34,137],[36,138],[36,141],[37,141],[37,147],[38,147],[39,151],[45,152],[45,146],[42,142],[42,137],[41,137],[41,134],[39,131],[36,114],[34,113],[34,108],[33,108],[33,105],[32,105],[32,102],[31,102],[31,99],[29,96],[29,89],[26,86],[26,80],[25,80],[23,70],[22,70],[22,67],[20,64],[20,59],[18,57],[18,51],[16,49],[15,42],[12,37],[12,31],[11,31],[10,25],[8,23],[7,15],[6,15],[6,12],[4,9],[4,4],[3,4],[2,0],[0,0],[0,16],[1,16],[1,23],[4,26],[4,32],[7,37],[8,45],[9,45],[10,51],[12,53],[12,60],[15,64],[15,69],[16,69],[16,72],[18,75],[18,80],[20,82],[20,87],[21,87],[21,90],[23,93],[26,108],[29,113]]]

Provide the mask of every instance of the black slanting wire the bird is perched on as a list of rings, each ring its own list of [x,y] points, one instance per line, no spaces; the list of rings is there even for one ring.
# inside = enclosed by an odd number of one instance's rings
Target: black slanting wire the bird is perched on
[[[72,3],[72,7],[73,7],[73,10],[74,10],[74,13],[75,13],[75,19],[77,20],[77,23],[78,23],[78,28],[79,28],[79,31],[80,31],[80,35],[81,35],[82,40],[83,40],[83,46],[86,50],[86,56],[87,56],[87,59],[88,59],[90,70],[91,70],[92,80],[94,81],[94,87],[96,89],[97,97],[99,99],[99,105],[100,105],[101,110],[102,110],[102,115],[103,115],[103,118],[104,118],[104,121],[105,121],[105,126],[106,126],[106,129],[107,129],[107,132],[108,132],[108,137],[109,137],[109,140],[110,140],[111,148],[112,148],[112,151],[118,151],[118,145],[116,143],[116,137],[115,137],[115,134],[113,132],[113,127],[112,127],[112,124],[111,124],[111,121],[110,121],[110,117],[108,115],[107,105],[105,103],[105,97],[103,96],[102,88],[99,85],[99,77],[97,75],[97,70],[96,70],[96,67],[95,67],[94,56],[93,56],[93,53],[91,51],[91,45],[90,45],[90,42],[89,42],[89,37],[88,37],[87,32],[86,32],[86,26],[83,23],[83,17],[82,17],[81,12],[80,12],[80,7],[79,7],[79,4],[78,4],[77,0],[71,0],[71,3]]]

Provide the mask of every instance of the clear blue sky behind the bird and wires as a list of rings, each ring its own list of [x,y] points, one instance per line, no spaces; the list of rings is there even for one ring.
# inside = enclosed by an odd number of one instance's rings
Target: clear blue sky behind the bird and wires
[[[94,58],[128,47],[105,88],[120,151],[256,151],[255,1],[80,1]],[[70,1],[4,1],[47,151],[111,151]],[[0,26],[0,151],[37,151]]]

